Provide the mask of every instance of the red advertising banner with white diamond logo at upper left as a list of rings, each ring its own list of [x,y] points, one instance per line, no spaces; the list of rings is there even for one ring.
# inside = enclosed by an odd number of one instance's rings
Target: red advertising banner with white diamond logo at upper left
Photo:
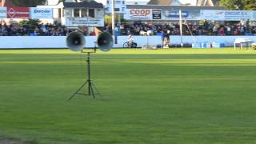
[[[30,18],[30,8],[7,7],[7,18]]]

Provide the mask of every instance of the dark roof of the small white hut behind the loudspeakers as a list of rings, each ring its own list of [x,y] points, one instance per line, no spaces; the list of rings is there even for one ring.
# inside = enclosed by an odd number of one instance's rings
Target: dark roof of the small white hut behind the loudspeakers
[[[63,2],[64,7],[83,7],[83,8],[103,8],[102,3],[95,1],[90,2]]]

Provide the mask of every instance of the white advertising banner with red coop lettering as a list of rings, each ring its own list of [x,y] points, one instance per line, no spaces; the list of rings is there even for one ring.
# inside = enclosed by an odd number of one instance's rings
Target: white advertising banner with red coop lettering
[[[152,9],[126,9],[124,18],[127,20],[152,20]]]

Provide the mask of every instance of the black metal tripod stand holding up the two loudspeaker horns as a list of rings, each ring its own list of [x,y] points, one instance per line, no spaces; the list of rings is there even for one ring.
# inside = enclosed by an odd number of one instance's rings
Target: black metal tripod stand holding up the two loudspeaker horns
[[[78,90],[76,90],[74,92],[73,95],[71,95],[71,97],[68,99],[68,101],[70,101],[72,98],[74,98],[74,96],[76,94],[89,95],[89,96],[92,95],[93,98],[95,98],[95,93],[94,93],[95,91],[94,91],[94,89],[97,90],[97,88],[96,88],[96,86],[94,85],[94,83],[90,79],[90,53],[95,53],[95,52],[96,52],[96,49],[94,49],[93,52],[82,52],[82,53],[87,53],[87,58],[86,58],[86,63],[87,63],[87,80],[86,80],[86,82],[84,82],[82,84],[82,86],[80,86],[78,88]],[[88,93],[85,94],[85,93],[80,92],[80,90],[82,90],[82,88],[84,88],[86,85],[88,86]]]

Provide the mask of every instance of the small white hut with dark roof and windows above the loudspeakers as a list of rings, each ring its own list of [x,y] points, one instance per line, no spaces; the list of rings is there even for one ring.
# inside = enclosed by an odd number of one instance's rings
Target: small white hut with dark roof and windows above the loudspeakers
[[[65,26],[104,26],[104,6],[95,1],[66,0],[58,5],[37,6],[54,9],[54,23]]]

